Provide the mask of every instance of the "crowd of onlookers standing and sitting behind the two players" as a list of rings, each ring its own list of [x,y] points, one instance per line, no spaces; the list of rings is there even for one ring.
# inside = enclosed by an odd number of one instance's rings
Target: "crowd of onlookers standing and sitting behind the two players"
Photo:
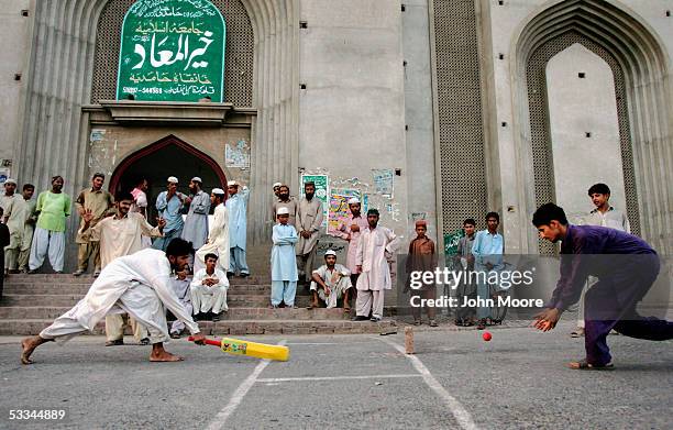
[[[147,219],[148,201],[146,179],[137,180],[135,187],[112,196],[103,189],[103,174],[95,174],[91,186],[81,190],[75,199],[75,210],[80,223],[75,242],[78,246],[77,269],[80,276],[92,266],[93,276],[112,260],[130,255],[145,247],[166,250],[176,238],[188,241],[192,246],[190,271],[175,274],[175,291],[197,319],[218,320],[227,311],[227,290],[232,276],[246,277],[246,217],[250,190],[231,180],[227,190],[202,189],[202,180],[189,180],[189,195],[177,190],[178,178],[170,176],[166,190],[155,201],[158,217],[156,225]],[[52,187],[33,199],[35,187],[25,184],[18,194],[14,179],[4,181],[4,195],[0,197],[0,245],[4,250],[5,276],[35,273],[48,256],[56,273],[63,273],[66,245],[66,218],[70,216],[71,199],[63,191],[62,176],[52,178]],[[383,318],[384,291],[390,289],[390,256],[398,251],[399,239],[393,230],[378,224],[379,213],[369,209],[362,213],[357,198],[347,201],[349,214],[339,228],[330,234],[347,242],[343,264],[336,262],[336,253],[328,250],[318,260],[317,250],[323,224],[322,202],[316,198],[316,185],[304,184],[304,195],[295,198],[289,186],[274,184],[275,198],[271,208],[274,220],[273,249],[271,255],[272,308],[295,307],[297,285],[305,285],[310,291],[309,308],[341,305],[344,312],[351,312],[354,302],[354,320],[378,321]],[[629,231],[626,214],[609,206],[610,190],[604,184],[596,184],[588,190],[595,209],[586,223],[606,225]],[[209,218],[209,214],[212,217]],[[498,233],[499,216],[486,214],[486,230],[476,231],[476,221],[466,219],[464,236],[460,239],[453,262],[465,271],[500,271],[504,253],[503,235]],[[432,271],[437,266],[434,242],[426,235],[426,221],[416,222],[417,236],[410,242],[407,272]],[[471,277],[457,286],[457,296],[488,298],[497,286],[486,283],[471,283]],[[483,279],[478,278],[477,279]],[[0,289],[1,294],[1,289]],[[435,286],[423,285],[413,289],[412,295],[424,299],[435,298]],[[581,301],[582,302],[582,301]],[[437,326],[435,309],[427,307],[428,322]],[[412,307],[416,324],[421,323],[421,309]],[[134,321],[134,333],[139,340],[146,340],[146,330]],[[487,307],[461,307],[455,311],[459,326],[477,324],[483,329],[499,322]],[[582,320],[575,335],[582,335]],[[108,316],[108,342],[121,342],[124,319]],[[184,327],[176,321],[172,333],[179,335]]]

